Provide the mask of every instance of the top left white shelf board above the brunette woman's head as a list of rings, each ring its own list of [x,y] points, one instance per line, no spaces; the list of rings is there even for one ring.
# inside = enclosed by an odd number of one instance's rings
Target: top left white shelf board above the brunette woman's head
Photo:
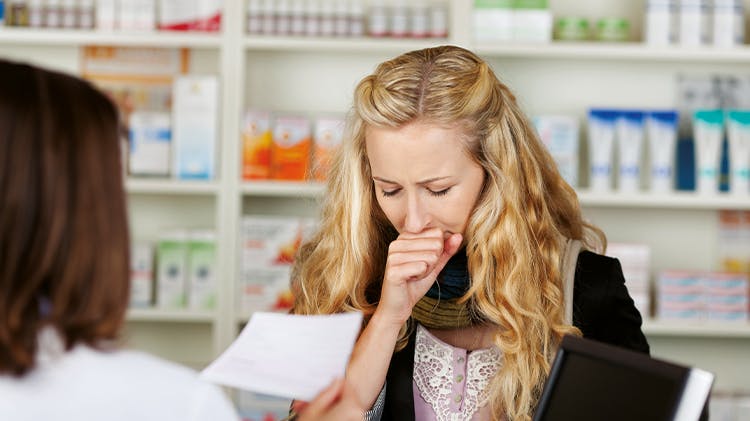
[[[219,48],[220,33],[171,31],[97,31],[0,27],[0,45],[79,46],[116,45],[133,47]]]

